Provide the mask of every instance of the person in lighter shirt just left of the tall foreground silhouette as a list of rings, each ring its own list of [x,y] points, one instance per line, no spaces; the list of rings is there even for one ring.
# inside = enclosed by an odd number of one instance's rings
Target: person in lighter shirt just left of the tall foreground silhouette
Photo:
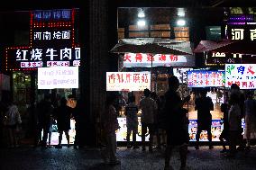
[[[153,123],[155,112],[157,111],[156,102],[150,97],[151,91],[149,89],[144,90],[144,98],[140,102],[140,108],[142,109],[142,151],[146,150],[145,135],[147,129],[149,129],[150,142],[149,151],[152,152],[153,143]]]

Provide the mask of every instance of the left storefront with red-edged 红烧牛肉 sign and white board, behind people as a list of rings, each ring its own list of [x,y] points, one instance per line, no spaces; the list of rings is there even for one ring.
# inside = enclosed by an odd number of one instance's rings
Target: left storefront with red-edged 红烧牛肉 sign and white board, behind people
[[[78,75],[80,47],[78,9],[37,10],[30,12],[29,44],[5,49],[5,70],[12,74],[13,98],[30,129],[29,108],[51,94],[53,105],[66,97],[71,107],[79,97]],[[72,97],[70,97],[72,96]],[[74,140],[75,122],[71,120],[70,141]],[[56,138],[52,125],[52,142]]]

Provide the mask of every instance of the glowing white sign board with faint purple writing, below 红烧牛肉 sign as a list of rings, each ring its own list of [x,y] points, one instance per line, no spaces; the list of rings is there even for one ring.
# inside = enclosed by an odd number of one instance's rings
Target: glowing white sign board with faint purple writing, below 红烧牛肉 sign
[[[39,67],[38,89],[78,88],[78,67]]]

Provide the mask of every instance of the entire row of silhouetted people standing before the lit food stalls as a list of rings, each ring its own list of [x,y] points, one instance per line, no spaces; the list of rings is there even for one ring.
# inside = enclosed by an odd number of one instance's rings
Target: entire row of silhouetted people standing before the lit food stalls
[[[179,150],[181,169],[186,167],[187,162],[189,121],[184,104],[189,102],[190,96],[188,95],[181,99],[178,94],[178,86],[178,78],[170,76],[169,90],[165,94],[158,96],[149,89],[145,89],[143,97],[138,104],[135,103],[134,95],[129,96],[127,104],[122,100],[122,103],[124,103],[124,115],[126,116],[127,148],[140,148],[136,141],[136,135],[139,132],[138,112],[141,110],[142,151],[146,151],[146,147],[148,147],[149,152],[152,152],[154,142],[156,143],[156,148],[164,147],[165,169],[170,168],[169,161],[174,148]],[[195,110],[197,111],[196,149],[199,149],[199,139],[202,130],[207,131],[209,148],[213,148],[211,111],[214,111],[214,103],[210,97],[206,96],[206,93],[206,89],[202,89],[195,101]],[[233,84],[228,95],[228,103],[221,105],[221,111],[224,113],[224,130],[220,135],[220,141],[223,143],[223,150],[221,152],[226,153],[226,157],[234,157],[238,150],[250,149],[251,139],[256,139],[256,101],[253,99],[253,95],[252,91],[242,94],[239,86]],[[116,107],[117,100],[118,97],[116,95],[108,95],[106,97],[105,111],[102,115],[106,147],[104,158],[105,162],[112,165],[121,163],[115,155],[115,132],[120,128],[117,121],[118,110],[120,109]],[[71,108],[67,105],[67,99],[63,97],[59,100],[59,104],[55,104],[54,107],[50,101],[50,95],[45,95],[44,99],[36,105],[34,146],[40,145],[41,148],[46,148],[47,145],[50,145],[50,128],[52,122],[57,121],[59,144],[56,148],[62,148],[63,132],[69,147],[70,119],[73,118],[76,121],[74,148],[82,147],[81,131],[82,124],[84,124],[81,116],[82,105],[81,101],[78,100],[77,106]],[[245,120],[243,136],[242,118]],[[3,123],[1,123],[2,128],[4,125],[8,131],[9,147],[18,147],[17,132],[22,123],[18,107],[11,101],[6,106],[1,104],[1,119],[3,120]],[[42,137],[41,131],[43,131]],[[130,141],[131,135],[133,136],[133,142]],[[146,135],[150,135],[149,142],[147,143],[145,142]],[[48,144],[47,139],[49,141]],[[153,141],[153,139],[156,139],[156,141]],[[246,142],[243,139],[246,139]],[[226,143],[229,145],[229,149],[226,148]],[[239,147],[236,148],[236,146]]]

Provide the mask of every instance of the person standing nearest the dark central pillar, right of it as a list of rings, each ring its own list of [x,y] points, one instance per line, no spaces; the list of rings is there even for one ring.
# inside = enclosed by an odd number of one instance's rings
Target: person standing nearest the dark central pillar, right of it
[[[114,103],[116,102],[116,96],[109,95],[105,102],[105,114],[103,115],[104,120],[104,130],[106,139],[106,153],[105,158],[109,159],[109,164],[119,165],[120,160],[116,157],[116,134],[115,130],[119,129],[119,124],[117,121],[118,113],[114,108]]]

